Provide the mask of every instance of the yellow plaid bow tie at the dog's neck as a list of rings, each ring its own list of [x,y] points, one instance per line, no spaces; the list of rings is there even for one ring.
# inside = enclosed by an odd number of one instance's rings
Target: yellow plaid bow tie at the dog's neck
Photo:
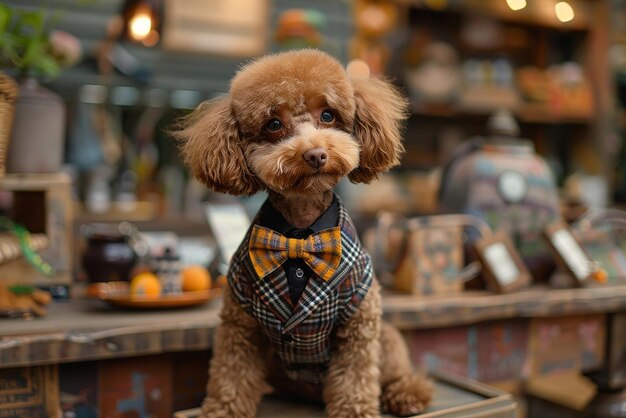
[[[315,274],[329,280],[341,261],[341,229],[325,229],[308,238],[298,239],[254,225],[248,250],[254,270],[261,279],[288,258],[302,258]]]

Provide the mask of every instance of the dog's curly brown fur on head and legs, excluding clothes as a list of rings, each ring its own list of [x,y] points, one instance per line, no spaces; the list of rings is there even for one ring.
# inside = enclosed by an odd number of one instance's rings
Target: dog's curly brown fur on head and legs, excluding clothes
[[[306,227],[328,208],[342,177],[368,183],[398,164],[405,111],[391,84],[352,79],[320,51],[291,51],[243,67],[230,93],[199,106],[176,136],[186,163],[209,188],[233,195],[267,190],[287,221]],[[323,112],[332,120],[324,121]],[[312,149],[323,152],[323,164],[303,158]],[[381,313],[374,281],[336,332],[323,388],[298,384],[295,394],[321,397],[335,418],[378,417],[381,408],[401,416],[421,412],[431,383],[413,374],[400,333]],[[266,382],[273,383],[271,347],[229,289],[221,318],[202,412],[253,417]]]

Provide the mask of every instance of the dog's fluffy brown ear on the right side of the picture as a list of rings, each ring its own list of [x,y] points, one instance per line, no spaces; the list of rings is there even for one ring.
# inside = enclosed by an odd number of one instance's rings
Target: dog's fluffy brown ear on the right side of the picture
[[[390,83],[373,77],[353,78],[356,115],[354,136],[361,145],[359,167],[349,174],[353,183],[369,183],[400,163],[404,151],[400,124],[407,100]]]

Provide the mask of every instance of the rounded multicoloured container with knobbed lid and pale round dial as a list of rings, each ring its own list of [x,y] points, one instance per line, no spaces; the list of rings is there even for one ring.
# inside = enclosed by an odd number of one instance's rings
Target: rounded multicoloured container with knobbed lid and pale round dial
[[[553,263],[542,239],[560,214],[556,181],[532,143],[519,138],[508,111],[489,119],[489,134],[460,147],[444,165],[439,197],[449,213],[467,213],[504,230],[537,281],[545,281]]]

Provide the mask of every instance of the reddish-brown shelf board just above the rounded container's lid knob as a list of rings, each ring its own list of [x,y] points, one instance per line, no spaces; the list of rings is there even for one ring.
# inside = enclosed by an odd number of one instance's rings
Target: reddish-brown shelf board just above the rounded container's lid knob
[[[494,109],[495,110],[495,109]],[[491,111],[472,110],[454,105],[413,105],[411,113],[430,118],[487,118]],[[593,121],[591,114],[554,112],[543,106],[524,105],[513,110],[519,122],[544,125],[585,125]]]

